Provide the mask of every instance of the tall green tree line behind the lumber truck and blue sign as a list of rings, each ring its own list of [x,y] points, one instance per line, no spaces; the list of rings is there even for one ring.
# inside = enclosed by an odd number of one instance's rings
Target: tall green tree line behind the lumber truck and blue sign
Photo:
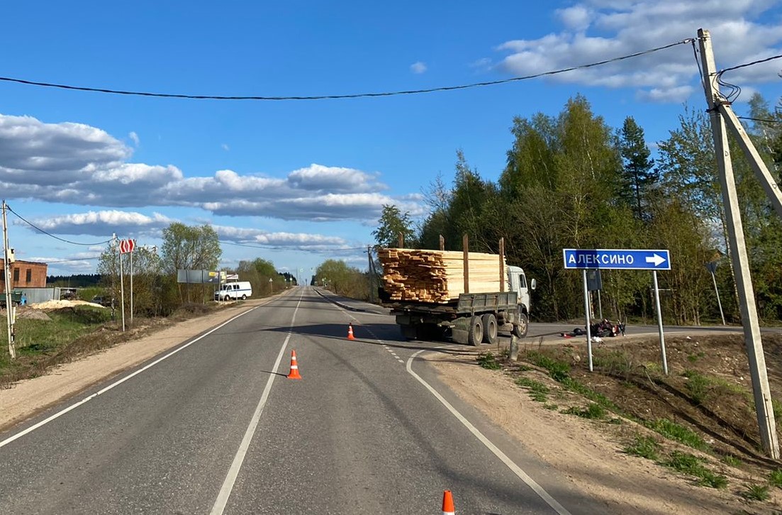
[[[761,95],[749,102],[748,125],[761,157],[780,182],[782,101],[775,109]],[[508,263],[537,279],[533,318],[583,317],[583,284],[565,270],[562,249],[668,249],[672,269],[658,272],[666,323],[720,320],[707,263],[726,320],[740,322],[727,227],[708,113],[684,106],[657,155],[644,129],[626,117],[610,127],[582,95],[560,113],[515,117],[513,142],[496,182],[486,180],[457,151],[453,183],[442,175],[425,189],[428,214],[414,221],[394,205],[383,207],[373,235],[378,247],[404,246],[498,252],[504,238]],[[730,142],[734,175],[762,321],[782,320],[782,220],[736,142]],[[605,270],[601,304],[613,319],[654,317],[651,272]]]

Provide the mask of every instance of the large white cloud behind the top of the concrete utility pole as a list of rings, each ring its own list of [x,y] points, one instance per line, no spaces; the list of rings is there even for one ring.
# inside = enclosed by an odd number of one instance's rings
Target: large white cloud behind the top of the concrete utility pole
[[[707,28],[719,68],[779,53],[782,21],[769,9],[779,0],[582,0],[556,14],[561,31],[537,39],[506,41],[505,56],[495,67],[515,76],[595,63],[697,37]],[[778,62],[725,74],[727,81],[778,81]],[[690,45],[575,70],[547,80],[608,88],[635,88],[637,98],[679,103],[698,88],[700,77]]]

